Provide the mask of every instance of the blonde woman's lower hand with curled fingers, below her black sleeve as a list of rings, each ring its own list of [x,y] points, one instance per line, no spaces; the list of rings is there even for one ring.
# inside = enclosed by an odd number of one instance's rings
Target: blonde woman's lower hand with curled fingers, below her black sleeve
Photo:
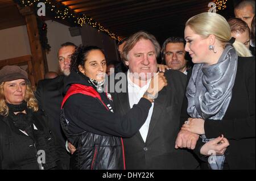
[[[205,143],[200,149],[200,153],[206,156],[209,155],[223,155],[226,148],[229,146],[229,141],[224,138],[223,134],[220,137],[214,138]]]

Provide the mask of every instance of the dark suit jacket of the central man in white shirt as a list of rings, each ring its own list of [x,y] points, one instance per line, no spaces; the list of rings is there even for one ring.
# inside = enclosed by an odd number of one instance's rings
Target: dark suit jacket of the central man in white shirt
[[[139,132],[123,138],[127,169],[196,169],[199,165],[191,152],[175,149],[187,77],[176,70],[166,71],[165,76],[168,85],[154,100],[146,143]],[[112,98],[116,113],[130,110],[128,93],[113,93]]]

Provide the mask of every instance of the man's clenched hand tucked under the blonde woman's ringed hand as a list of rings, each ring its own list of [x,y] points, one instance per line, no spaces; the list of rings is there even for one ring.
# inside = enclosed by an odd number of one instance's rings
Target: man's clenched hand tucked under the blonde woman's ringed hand
[[[175,148],[195,149],[199,134],[181,130],[176,138]]]

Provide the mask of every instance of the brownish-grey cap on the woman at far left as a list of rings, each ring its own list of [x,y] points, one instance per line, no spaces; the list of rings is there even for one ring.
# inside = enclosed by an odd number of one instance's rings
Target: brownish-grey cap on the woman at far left
[[[20,78],[25,79],[26,82],[30,82],[28,80],[27,71],[17,65],[6,65],[0,70],[0,83],[14,81]]]

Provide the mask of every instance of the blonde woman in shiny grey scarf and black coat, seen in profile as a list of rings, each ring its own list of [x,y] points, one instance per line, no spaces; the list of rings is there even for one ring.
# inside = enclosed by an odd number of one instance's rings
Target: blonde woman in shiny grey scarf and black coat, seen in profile
[[[195,66],[183,103],[190,117],[183,116],[176,146],[192,148],[184,136],[191,132],[200,135],[195,153],[209,169],[255,169],[254,57],[218,14],[193,16],[184,34]]]

